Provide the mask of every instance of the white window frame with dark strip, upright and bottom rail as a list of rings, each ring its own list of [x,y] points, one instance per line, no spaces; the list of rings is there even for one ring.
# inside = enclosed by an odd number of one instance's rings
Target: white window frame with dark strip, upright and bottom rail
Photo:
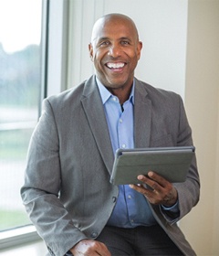
[[[67,89],[68,56],[68,12],[69,0],[42,1],[41,34],[41,102],[47,96]],[[55,44],[53,42],[56,42]],[[0,232],[0,251],[11,249],[27,242],[41,240],[36,228],[30,224],[24,227]]]

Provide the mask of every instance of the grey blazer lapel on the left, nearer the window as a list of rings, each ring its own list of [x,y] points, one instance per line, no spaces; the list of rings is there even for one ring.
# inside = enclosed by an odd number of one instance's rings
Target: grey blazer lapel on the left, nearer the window
[[[109,173],[111,173],[114,155],[111,147],[108,124],[95,76],[92,76],[86,81],[81,102],[86,112],[90,129],[99,147],[99,154]]]

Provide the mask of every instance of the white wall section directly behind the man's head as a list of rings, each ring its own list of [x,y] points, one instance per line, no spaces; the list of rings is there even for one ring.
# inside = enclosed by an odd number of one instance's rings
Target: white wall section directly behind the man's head
[[[93,73],[88,45],[94,22],[108,13],[130,16],[143,42],[136,77],[184,96],[187,1],[75,0],[71,2],[68,87]]]

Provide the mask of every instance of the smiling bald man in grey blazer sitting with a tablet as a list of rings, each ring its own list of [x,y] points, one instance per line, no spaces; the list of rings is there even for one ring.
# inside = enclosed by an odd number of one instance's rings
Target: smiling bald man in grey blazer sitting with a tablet
[[[138,178],[153,190],[110,184],[119,147],[193,144],[180,96],[134,78],[141,48],[128,16],[99,18],[96,74],[44,101],[21,195],[51,255],[195,255],[176,224],[199,199],[195,159],[184,183],[150,172]]]

